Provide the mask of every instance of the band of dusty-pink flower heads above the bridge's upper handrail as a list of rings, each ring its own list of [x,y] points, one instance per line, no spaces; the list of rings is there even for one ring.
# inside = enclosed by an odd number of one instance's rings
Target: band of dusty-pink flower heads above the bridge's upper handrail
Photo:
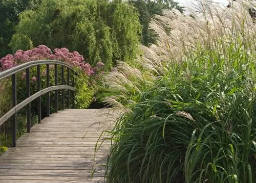
[[[10,69],[18,64],[22,64],[35,60],[59,60],[70,64],[73,67],[78,67],[85,74],[92,76],[98,69],[104,67],[104,64],[99,62],[95,68],[92,68],[89,63],[84,62],[83,56],[77,51],[70,52],[67,48],[56,48],[51,51],[46,45],[39,45],[36,48],[23,51],[17,50],[14,55],[7,55],[0,60],[1,70]]]

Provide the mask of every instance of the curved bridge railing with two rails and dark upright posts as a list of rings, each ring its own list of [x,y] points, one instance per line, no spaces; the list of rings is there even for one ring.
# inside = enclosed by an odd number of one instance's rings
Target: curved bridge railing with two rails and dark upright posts
[[[40,66],[46,65],[46,86],[47,88],[41,89],[41,77],[40,77]],[[54,84],[50,86],[50,65],[54,65]],[[58,85],[58,65],[61,66],[61,85]],[[33,95],[30,94],[30,68],[36,66],[37,70],[37,92]],[[65,69],[67,69],[67,81],[65,82]],[[27,98],[17,104],[17,73],[26,70],[26,93]],[[70,73],[72,72],[72,79]],[[46,94],[46,116],[50,116],[50,92],[56,91],[54,94],[55,99],[55,112],[58,112],[58,90],[61,90],[61,110],[65,109],[65,90],[67,90],[67,108],[70,108],[70,101],[75,106],[75,80],[74,75],[76,72],[70,65],[65,62],[56,60],[37,60],[30,61],[11,69],[0,72],[0,82],[7,77],[12,77],[12,109],[9,110],[5,115],[0,118],[0,126],[4,124],[9,118],[12,118],[12,147],[16,147],[17,140],[17,112],[24,107],[27,107],[27,133],[30,133],[31,128],[31,102],[37,99],[37,115],[38,123],[41,121],[41,96]],[[71,91],[71,93],[70,93]]]

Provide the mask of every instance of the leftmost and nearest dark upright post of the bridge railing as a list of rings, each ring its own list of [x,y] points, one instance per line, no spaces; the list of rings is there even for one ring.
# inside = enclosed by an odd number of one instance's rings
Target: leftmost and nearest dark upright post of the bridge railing
[[[12,107],[17,104],[17,90],[16,90],[16,74],[12,75]],[[17,139],[17,114],[12,116],[12,147],[16,147]]]

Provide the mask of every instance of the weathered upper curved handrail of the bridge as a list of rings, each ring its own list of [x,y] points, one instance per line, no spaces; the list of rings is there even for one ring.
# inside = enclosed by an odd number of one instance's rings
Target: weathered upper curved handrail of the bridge
[[[3,72],[0,72],[0,80],[3,80],[6,77],[11,76],[12,74],[15,74],[15,73],[17,73],[19,71],[22,71],[24,69],[27,69],[29,67],[42,65],[42,64],[63,65],[65,67],[70,68],[73,71],[72,67],[69,64],[65,63],[65,62],[61,62],[61,61],[57,61],[57,60],[36,60],[36,61],[26,62],[26,63],[20,64],[20,65],[17,65],[15,67],[12,67],[10,69],[7,69]]]

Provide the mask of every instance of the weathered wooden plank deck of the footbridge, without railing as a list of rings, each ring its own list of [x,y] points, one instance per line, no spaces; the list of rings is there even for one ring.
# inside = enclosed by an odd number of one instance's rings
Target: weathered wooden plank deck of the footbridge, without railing
[[[94,150],[100,134],[114,119],[99,114],[99,110],[52,114],[0,157],[0,182],[104,182],[102,164],[110,143],[105,141],[96,156]]]

